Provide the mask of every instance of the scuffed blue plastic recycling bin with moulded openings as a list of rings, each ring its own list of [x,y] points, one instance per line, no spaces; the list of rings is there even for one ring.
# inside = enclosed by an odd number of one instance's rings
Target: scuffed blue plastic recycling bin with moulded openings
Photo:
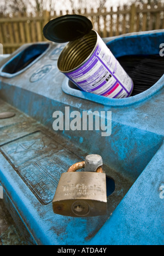
[[[145,51],[159,55],[164,31],[103,40],[116,58],[126,60]],[[30,245],[163,245],[164,76],[129,98],[83,92],[58,71],[65,45],[25,44],[0,63],[0,112],[16,114],[0,119],[5,205]],[[70,126],[55,131],[57,111],[64,122],[72,112],[96,112],[93,120],[104,112],[106,125],[99,131]],[[102,136],[107,124],[109,132]],[[52,199],[61,173],[88,154],[103,159],[107,214],[54,214]]]

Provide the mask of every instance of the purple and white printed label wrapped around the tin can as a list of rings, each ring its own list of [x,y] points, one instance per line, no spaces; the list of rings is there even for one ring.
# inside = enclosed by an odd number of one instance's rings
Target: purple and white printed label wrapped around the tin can
[[[132,79],[97,34],[97,47],[83,65],[66,73],[81,90],[109,98],[125,98],[133,90]]]

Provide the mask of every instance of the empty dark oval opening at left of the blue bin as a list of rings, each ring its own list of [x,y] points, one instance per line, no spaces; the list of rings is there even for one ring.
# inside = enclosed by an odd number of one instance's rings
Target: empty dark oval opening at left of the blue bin
[[[42,55],[49,44],[33,44],[22,50],[13,59],[11,59],[2,69],[2,72],[15,74],[26,68],[30,63]]]

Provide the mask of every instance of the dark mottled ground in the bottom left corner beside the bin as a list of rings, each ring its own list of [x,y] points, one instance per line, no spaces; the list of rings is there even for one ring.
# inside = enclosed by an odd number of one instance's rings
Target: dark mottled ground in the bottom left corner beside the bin
[[[27,245],[5,207],[3,199],[0,199],[0,245]]]

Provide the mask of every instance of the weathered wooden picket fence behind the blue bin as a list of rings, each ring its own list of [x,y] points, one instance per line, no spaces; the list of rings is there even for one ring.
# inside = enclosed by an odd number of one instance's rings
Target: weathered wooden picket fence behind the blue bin
[[[92,21],[93,28],[101,37],[118,36],[124,33],[149,31],[164,28],[164,8],[161,4],[135,5],[131,7],[118,7],[117,10],[91,9],[81,12],[72,11],[73,14],[87,16]],[[5,16],[0,18],[0,43],[3,44],[4,53],[12,53],[22,44],[45,41],[43,27],[50,20],[57,16],[71,14],[62,11],[60,15],[55,12],[44,11],[42,16],[32,14],[29,16]]]

